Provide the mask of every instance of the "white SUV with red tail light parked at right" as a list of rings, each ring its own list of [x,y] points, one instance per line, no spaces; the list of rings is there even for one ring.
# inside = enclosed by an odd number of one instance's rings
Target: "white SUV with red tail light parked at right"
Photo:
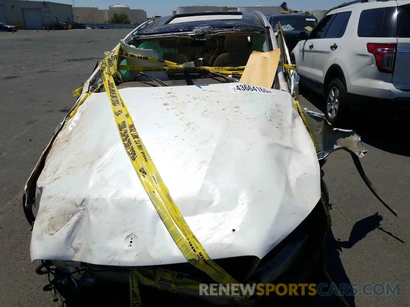
[[[298,38],[291,61],[301,84],[326,97],[330,123],[349,109],[410,110],[410,0],[344,3]]]

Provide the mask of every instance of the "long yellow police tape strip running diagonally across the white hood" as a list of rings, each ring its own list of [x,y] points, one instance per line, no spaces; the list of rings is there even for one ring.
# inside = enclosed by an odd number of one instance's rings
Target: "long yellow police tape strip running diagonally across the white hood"
[[[220,284],[238,283],[218,264],[212,261],[198,239],[191,232],[159,176],[153,160],[150,158],[144,143],[139,137],[128,108],[115,85],[113,72],[116,73],[116,70],[112,71],[109,64],[114,63],[114,59],[112,59],[113,53],[115,54],[115,52],[105,53],[105,59],[100,62],[103,84],[111,102],[112,112],[124,148],[155,210],[157,210],[160,219],[169,231],[175,244],[189,263],[205,272],[212,280]],[[118,52],[118,54],[124,53]],[[114,68],[116,67],[114,66]],[[130,276],[130,281],[132,281],[132,278],[134,277]]]

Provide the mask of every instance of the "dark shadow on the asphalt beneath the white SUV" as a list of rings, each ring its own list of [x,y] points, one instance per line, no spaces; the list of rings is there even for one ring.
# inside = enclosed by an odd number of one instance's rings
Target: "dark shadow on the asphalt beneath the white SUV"
[[[324,113],[324,97],[308,89],[303,89],[301,95]],[[362,142],[370,146],[389,153],[410,157],[410,143],[404,132],[406,131],[404,125],[408,122],[405,114],[402,114],[403,119],[400,121],[383,117],[383,114],[380,115],[351,112],[346,124],[337,128],[352,129],[360,135]]]

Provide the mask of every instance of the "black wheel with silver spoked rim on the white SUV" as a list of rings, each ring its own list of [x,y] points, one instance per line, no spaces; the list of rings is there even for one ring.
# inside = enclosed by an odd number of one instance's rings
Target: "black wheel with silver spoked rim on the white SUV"
[[[333,126],[341,124],[345,112],[346,91],[342,80],[333,79],[326,90],[325,116]]]

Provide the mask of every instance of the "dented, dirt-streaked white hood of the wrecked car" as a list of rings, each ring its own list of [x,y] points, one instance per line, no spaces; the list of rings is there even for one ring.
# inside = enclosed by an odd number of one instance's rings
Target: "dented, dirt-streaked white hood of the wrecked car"
[[[159,174],[213,259],[262,258],[320,198],[316,151],[289,93],[240,83],[121,88]],[[32,260],[187,262],[123,147],[107,98],[64,124],[37,180]]]

